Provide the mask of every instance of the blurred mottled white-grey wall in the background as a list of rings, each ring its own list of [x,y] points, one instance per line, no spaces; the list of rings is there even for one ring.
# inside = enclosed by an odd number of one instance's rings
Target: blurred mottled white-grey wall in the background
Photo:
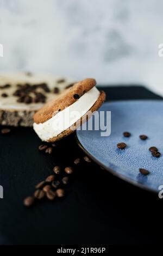
[[[163,1],[0,0],[0,71],[52,72],[163,95]]]

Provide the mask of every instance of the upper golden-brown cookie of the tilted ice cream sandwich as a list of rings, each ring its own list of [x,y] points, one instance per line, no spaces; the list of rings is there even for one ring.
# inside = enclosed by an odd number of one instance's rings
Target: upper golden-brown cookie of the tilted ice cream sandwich
[[[37,111],[34,115],[34,122],[40,124],[49,120],[55,113],[62,111],[76,102],[95,85],[96,80],[93,78],[87,78],[75,83],[71,88],[65,90],[65,92],[63,92],[57,99],[46,103],[39,111]]]

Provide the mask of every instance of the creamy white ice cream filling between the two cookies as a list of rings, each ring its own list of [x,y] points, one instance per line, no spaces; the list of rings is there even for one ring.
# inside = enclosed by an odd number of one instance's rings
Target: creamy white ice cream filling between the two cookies
[[[67,130],[76,123],[95,104],[100,95],[99,90],[93,87],[76,102],[54,115],[45,123],[36,124],[33,127],[42,141],[48,141],[57,137],[61,132]]]

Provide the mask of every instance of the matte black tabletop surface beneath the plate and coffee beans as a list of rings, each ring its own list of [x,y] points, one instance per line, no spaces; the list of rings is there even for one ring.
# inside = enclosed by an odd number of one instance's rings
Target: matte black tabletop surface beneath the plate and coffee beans
[[[161,99],[142,87],[105,88],[110,100]],[[53,155],[40,153],[32,129],[0,135],[0,242],[2,244],[146,244],[157,242],[163,199],[124,182],[96,164],[83,163],[72,176],[66,197],[32,209],[22,201],[34,185],[52,174],[55,164],[69,166],[83,155],[74,135]]]

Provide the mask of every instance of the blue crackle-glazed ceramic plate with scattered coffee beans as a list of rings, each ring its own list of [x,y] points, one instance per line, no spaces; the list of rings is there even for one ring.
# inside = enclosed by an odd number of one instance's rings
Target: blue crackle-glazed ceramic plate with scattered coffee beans
[[[111,111],[111,135],[102,137],[101,130],[78,130],[79,145],[98,164],[121,179],[142,188],[157,191],[163,185],[163,101],[117,101],[104,103],[100,111]],[[83,126],[85,126],[84,124]],[[129,131],[131,136],[123,136]],[[147,135],[142,141],[139,135]],[[124,142],[127,148],[117,149]],[[149,148],[155,146],[161,156],[153,157]],[[139,168],[151,173],[144,176]]]

